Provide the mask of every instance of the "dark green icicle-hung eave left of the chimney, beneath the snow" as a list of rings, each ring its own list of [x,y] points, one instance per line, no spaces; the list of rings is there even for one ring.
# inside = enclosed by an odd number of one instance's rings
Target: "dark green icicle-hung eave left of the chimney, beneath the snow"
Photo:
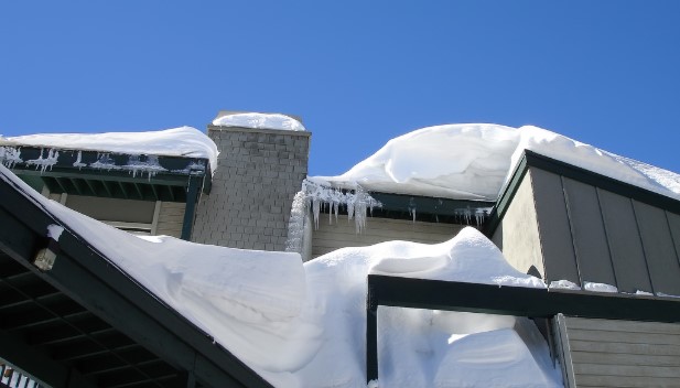
[[[190,177],[211,190],[207,159],[137,155],[26,146],[0,147],[0,163],[40,191],[186,203]],[[190,200],[191,201],[191,200]]]

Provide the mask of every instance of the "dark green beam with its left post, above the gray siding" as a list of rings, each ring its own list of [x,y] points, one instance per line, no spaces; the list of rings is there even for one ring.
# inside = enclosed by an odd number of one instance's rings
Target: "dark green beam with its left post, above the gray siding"
[[[378,378],[379,305],[529,317],[559,313],[582,317],[680,322],[680,300],[549,291],[369,274],[366,298],[367,381]]]

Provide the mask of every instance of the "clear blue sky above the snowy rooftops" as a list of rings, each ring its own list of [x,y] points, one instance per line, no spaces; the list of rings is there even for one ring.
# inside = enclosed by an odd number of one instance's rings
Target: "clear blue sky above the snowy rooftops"
[[[536,125],[680,172],[680,1],[2,1],[0,133],[302,116],[310,174]]]

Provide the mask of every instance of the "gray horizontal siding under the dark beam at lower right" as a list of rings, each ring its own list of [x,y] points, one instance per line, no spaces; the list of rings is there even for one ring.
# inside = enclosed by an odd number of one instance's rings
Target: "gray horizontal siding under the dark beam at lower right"
[[[680,324],[566,317],[578,387],[680,387]]]

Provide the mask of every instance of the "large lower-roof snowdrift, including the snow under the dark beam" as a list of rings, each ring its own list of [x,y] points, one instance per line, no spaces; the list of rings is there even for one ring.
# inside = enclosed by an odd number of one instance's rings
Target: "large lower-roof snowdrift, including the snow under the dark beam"
[[[344,248],[302,265],[298,254],[136,237],[42,197],[3,166],[0,173],[276,387],[366,387],[368,273],[546,287],[471,227],[438,245]],[[378,314],[382,387],[561,386],[559,366],[525,319],[382,308]]]

